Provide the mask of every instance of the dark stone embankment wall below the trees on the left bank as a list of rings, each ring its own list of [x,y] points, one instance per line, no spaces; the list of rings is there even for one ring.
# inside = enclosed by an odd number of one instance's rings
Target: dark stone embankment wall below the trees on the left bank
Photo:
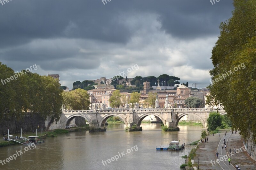
[[[17,120],[16,117],[4,115],[0,119],[0,135],[3,135],[3,133],[8,134],[7,128],[9,128],[10,134],[20,133],[20,128],[22,128],[23,132],[35,132],[38,125],[40,129],[41,125],[45,129],[44,119],[36,114],[27,114],[20,120]]]

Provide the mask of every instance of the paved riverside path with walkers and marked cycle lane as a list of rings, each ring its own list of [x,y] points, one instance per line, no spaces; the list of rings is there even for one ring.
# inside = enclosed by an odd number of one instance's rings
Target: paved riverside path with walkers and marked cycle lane
[[[214,136],[209,135],[209,142],[200,143],[199,148],[196,151],[195,163],[197,163],[197,158],[199,159],[199,169],[204,170],[233,170],[236,169],[234,166],[238,164],[241,170],[256,169],[256,162],[251,159],[251,157],[244,152],[242,137],[239,134],[231,134],[230,131],[227,130],[226,136],[224,132],[220,132],[220,137],[217,134]],[[222,150],[222,144],[224,145],[224,138],[227,144],[227,153],[225,150],[225,146]],[[238,153],[234,154],[234,147],[236,147]],[[232,153],[229,153],[229,148],[231,148]],[[216,151],[219,152],[219,157],[221,161],[219,163],[216,161]],[[228,154],[228,155],[227,155]],[[228,165],[228,158],[230,157],[231,162]],[[226,159],[226,160],[225,160]],[[212,162],[211,162],[212,161]],[[215,162],[214,162],[215,161]]]

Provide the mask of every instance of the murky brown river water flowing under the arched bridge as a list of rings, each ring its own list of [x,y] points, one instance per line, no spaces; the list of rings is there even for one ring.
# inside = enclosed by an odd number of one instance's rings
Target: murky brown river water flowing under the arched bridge
[[[109,124],[106,132],[71,132],[47,138],[44,144],[31,149],[23,145],[3,147],[0,148],[2,161],[16,151],[22,154],[16,160],[3,162],[4,165],[0,163],[0,169],[180,170],[185,162],[181,156],[188,155],[191,149],[156,151],[156,146],[173,140],[183,143],[183,139],[186,144],[201,136],[201,126],[179,126],[177,132],[161,131],[160,124],[155,123],[141,124],[141,127],[140,132],[125,132],[124,124]],[[120,158],[112,161],[111,157],[115,156]]]

